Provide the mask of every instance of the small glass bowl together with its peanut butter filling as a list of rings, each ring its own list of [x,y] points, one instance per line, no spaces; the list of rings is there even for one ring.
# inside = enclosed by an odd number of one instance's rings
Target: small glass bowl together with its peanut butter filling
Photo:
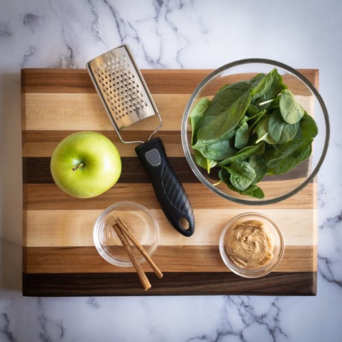
[[[284,254],[284,238],[263,213],[243,213],[231,219],[220,235],[222,261],[235,274],[259,278],[272,272]]]

